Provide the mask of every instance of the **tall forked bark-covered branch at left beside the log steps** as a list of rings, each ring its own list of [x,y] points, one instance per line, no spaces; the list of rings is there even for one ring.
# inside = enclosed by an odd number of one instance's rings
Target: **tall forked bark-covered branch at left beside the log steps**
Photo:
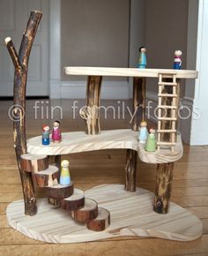
[[[35,215],[36,198],[33,189],[32,174],[25,172],[20,166],[20,155],[26,154],[26,79],[30,51],[41,20],[41,11],[31,11],[30,18],[23,34],[19,55],[10,37],[5,39],[7,49],[14,64],[14,100],[13,100],[13,132],[14,148],[17,155],[19,175],[25,201],[25,214]]]

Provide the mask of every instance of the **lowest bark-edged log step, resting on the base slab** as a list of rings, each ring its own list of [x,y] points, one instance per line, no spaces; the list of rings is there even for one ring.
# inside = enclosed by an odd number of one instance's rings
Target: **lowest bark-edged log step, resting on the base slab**
[[[88,230],[103,231],[110,225],[110,213],[105,208],[98,208],[98,216],[92,221],[86,222]]]

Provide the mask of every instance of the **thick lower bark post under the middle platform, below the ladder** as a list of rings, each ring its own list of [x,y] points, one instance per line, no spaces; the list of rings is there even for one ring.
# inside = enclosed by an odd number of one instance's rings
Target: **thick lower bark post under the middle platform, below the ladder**
[[[167,214],[173,181],[173,170],[174,162],[160,163],[157,166],[153,210],[158,214]]]

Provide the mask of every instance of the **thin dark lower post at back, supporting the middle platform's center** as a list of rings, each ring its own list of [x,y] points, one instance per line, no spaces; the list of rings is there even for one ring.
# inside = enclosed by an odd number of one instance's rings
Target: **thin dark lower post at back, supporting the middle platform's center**
[[[125,168],[125,190],[130,192],[136,191],[137,177],[137,151],[127,149],[126,168]]]

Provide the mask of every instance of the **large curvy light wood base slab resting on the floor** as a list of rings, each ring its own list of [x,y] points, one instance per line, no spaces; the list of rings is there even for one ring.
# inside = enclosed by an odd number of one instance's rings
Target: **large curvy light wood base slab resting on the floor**
[[[24,215],[23,200],[12,202],[6,209],[9,224],[15,230],[37,240],[49,243],[77,243],[109,237],[141,236],[190,241],[202,234],[202,223],[186,209],[170,204],[167,215],[152,211],[153,193],[137,188],[126,192],[122,184],[94,187],[85,196],[97,200],[111,215],[107,230],[87,230],[84,224],[74,222],[69,213],[38,200],[38,214]],[[56,221],[55,221],[56,220]]]

